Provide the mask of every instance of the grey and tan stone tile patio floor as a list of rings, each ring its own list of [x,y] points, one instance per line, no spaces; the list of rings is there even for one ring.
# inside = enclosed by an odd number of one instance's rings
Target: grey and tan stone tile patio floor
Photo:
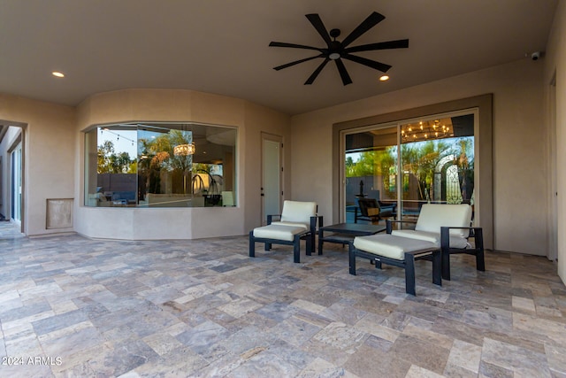
[[[347,250],[248,238],[0,240],[0,376],[566,377],[566,288],[547,258],[452,258],[451,282]],[[304,254],[304,252],[303,252]]]

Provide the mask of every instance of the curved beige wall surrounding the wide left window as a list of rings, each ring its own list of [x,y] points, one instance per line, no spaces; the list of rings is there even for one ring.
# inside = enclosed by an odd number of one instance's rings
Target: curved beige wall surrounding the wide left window
[[[75,143],[75,229],[122,239],[186,239],[244,235],[261,223],[261,132],[290,137],[290,118],[247,101],[177,89],[126,89],[89,97],[78,107]],[[118,121],[195,121],[238,127],[237,207],[89,208],[83,205],[83,131]],[[286,161],[290,162],[288,154]],[[290,165],[290,163],[289,163]],[[290,191],[289,174],[286,174]],[[242,221],[243,220],[243,221]]]

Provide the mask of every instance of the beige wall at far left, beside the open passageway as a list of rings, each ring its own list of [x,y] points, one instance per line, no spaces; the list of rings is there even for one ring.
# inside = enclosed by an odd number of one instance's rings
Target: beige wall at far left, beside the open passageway
[[[27,235],[73,231],[47,229],[46,209],[48,198],[74,197],[74,116],[73,107],[0,94],[0,120],[16,122],[24,130],[23,223]]]

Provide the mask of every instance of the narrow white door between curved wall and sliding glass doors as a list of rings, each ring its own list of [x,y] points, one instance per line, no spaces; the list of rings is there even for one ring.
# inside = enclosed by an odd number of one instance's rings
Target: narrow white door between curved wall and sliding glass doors
[[[262,224],[267,215],[279,214],[283,197],[281,185],[281,150],[283,138],[262,134]]]

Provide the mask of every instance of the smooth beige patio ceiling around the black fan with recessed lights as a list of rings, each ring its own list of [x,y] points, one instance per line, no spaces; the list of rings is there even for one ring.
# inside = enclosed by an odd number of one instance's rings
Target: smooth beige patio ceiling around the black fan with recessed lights
[[[544,50],[557,0],[0,0],[0,92],[77,105],[129,88],[193,89],[299,114]],[[409,49],[357,53],[393,66],[389,81],[345,61],[303,85],[322,61],[280,66],[324,47],[305,14],[340,41],[371,12],[386,19],[350,46],[409,39]],[[526,57],[525,57],[526,55]],[[532,64],[540,64],[532,62]],[[51,75],[65,73],[64,79]]]

